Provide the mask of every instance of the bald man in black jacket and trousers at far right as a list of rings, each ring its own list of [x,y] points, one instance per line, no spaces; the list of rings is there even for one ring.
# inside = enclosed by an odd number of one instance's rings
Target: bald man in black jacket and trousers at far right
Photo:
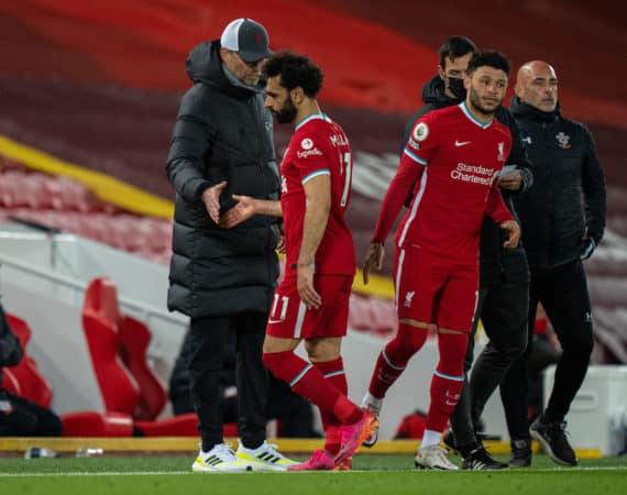
[[[585,125],[564,119],[558,106],[558,77],[546,62],[518,70],[512,112],[527,144],[534,188],[516,198],[522,239],[531,268],[529,343],[510,369],[501,393],[514,443],[531,460],[529,435],[560,464],[575,465],[565,437],[564,417],[579,391],[593,348],[592,314],[583,260],[605,229],[605,176],[594,140]],[[583,200],[582,200],[583,198]],[[526,364],[538,302],[544,307],[563,353],[544,413],[527,428],[521,405],[527,398]]]

